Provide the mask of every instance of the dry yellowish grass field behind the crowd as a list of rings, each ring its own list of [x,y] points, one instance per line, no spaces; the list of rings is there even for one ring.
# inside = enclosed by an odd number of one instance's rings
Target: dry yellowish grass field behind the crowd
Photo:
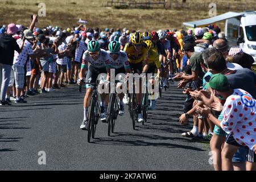
[[[209,18],[208,8],[197,9],[197,4],[203,5],[205,1],[189,1],[192,3],[189,9],[112,9],[104,7],[106,1],[94,0],[0,0],[1,19],[0,24],[14,22],[28,26],[30,24],[30,15],[37,13],[38,3],[46,3],[46,17],[39,18],[39,27],[52,26],[72,27],[77,25],[79,18],[86,19],[89,27],[127,27],[133,30],[158,30],[166,28],[182,28],[182,23],[191,20]],[[181,1],[177,1],[181,2]],[[210,1],[216,2],[218,7],[224,0]],[[174,1],[172,1],[174,3]],[[231,4],[232,3],[232,4]],[[208,4],[207,4],[208,5]],[[255,9],[255,0],[230,1],[230,11],[240,11],[241,6],[253,7]],[[225,13],[226,10],[218,10],[217,14]],[[221,27],[224,22],[220,23]]]

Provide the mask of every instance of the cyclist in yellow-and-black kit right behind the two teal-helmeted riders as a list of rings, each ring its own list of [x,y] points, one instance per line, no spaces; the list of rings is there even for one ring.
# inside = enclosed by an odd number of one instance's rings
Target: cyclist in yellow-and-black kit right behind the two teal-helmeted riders
[[[143,36],[141,32],[135,32],[131,35],[130,42],[126,43],[123,51],[126,52],[128,61],[130,63],[131,70],[133,73],[146,73],[148,69],[147,63],[147,44],[143,42]],[[139,93],[136,94],[137,104],[138,104],[138,122],[142,122],[143,116],[141,113],[141,103],[142,103],[142,81],[139,81]],[[124,102],[127,103],[127,95],[124,98]]]

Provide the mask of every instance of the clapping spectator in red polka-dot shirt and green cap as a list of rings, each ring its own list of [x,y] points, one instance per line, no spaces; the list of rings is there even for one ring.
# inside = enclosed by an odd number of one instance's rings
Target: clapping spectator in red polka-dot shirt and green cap
[[[249,151],[246,169],[256,169],[256,101],[245,90],[231,89],[228,78],[220,73],[210,78],[209,86],[212,94],[226,100],[222,121],[213,116],[209,107],[196,107],[196,110],[228,134],[221,152],[222,170],[233,170],[232,157],[241,146]]]

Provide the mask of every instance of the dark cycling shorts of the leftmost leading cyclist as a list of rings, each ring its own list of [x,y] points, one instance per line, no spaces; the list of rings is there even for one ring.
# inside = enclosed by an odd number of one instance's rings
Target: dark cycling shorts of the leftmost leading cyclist
[[[105,67],[96,68],[96,67],[93,67],[92,65],[89,65],[85,82],[96,83],[97,80],[101,80],[98,78],[98,75],[100,75],[101,73],[105,73],[105,74],[107,73]],[[86,84],[85,87],[92,88],[93,86],[90,84]]]

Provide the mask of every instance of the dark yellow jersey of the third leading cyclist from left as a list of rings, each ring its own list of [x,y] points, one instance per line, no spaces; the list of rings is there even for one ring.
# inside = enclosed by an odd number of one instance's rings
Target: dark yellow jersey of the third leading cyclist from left
[[[133,43],[126,43],[123,51],[126,52],[128,61],[133,64],[141,63],[141,61],[146,59],[148,54],[146,43],[142,43],[141,51],[139,52],[134,48]]]

